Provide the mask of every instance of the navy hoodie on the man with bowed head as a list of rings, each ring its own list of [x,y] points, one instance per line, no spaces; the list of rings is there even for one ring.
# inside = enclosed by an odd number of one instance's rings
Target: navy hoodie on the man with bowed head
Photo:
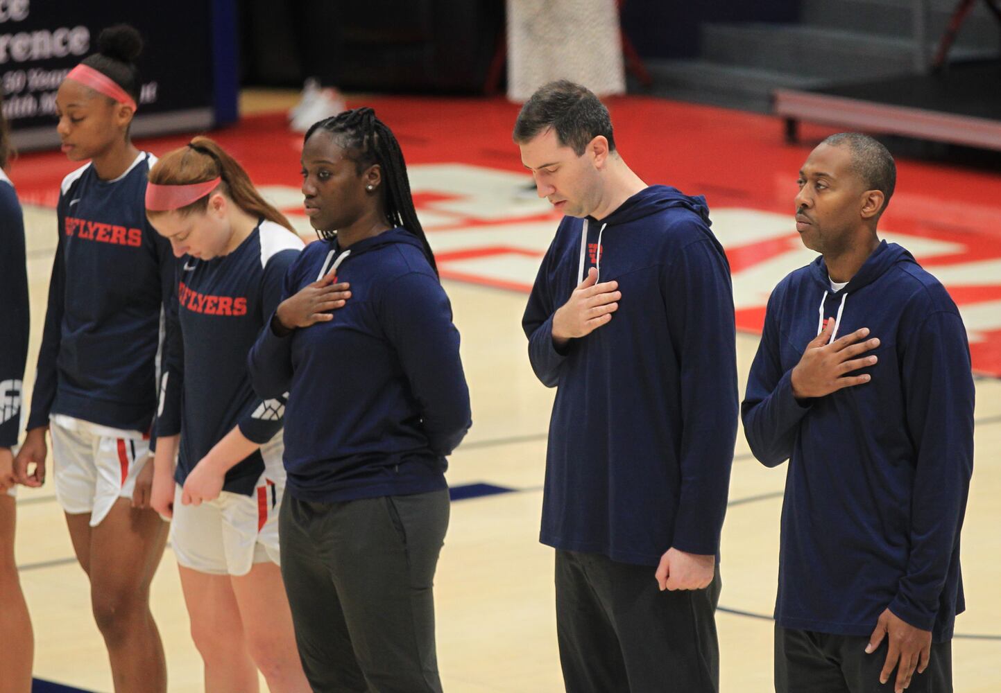
[[[702,197],[652,186],[605,219],[564,217],[523,327],[559,387],[541,541],[656,566],[671,547],[716,554],[737,438],[733,289]],[[553,315],[599,267],[612,321],[553,344]]]

